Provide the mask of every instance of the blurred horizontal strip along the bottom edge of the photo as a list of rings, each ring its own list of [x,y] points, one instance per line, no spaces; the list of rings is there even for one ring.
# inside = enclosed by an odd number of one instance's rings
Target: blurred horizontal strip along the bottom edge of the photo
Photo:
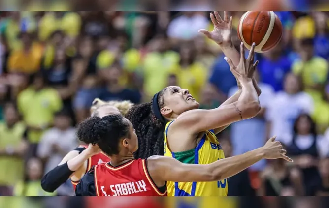
[[[327,197],[0,197],[8,208],[328,208]]]

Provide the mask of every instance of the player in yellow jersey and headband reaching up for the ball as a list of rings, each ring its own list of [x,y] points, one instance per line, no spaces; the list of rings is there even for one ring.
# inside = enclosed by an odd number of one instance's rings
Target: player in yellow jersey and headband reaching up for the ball
[[[136,158],[165,155],[188,164],[210,164],[223,159],[224,153],[216,134],[232,122],[256,116],[260,110],[260,91],[253,79],[257,65],[257,62],[254,64],[255,45],[245,59],[241,44],[240,56],[230,42],[232,19],[225,13],[223,21],[217,12],[210,17],[215,25],[214,31],[200,32],[221,45],[230,70],[242,88],[211,110],[198,109],[199,103],[189,91],[177,86],[156,93],[150,103],[133,106],[126,118],[132,122],[139,138]],[[223,166],[223,169],[230,172],[230,176],[235,175],[243,170],[237,165],[240,162],[230,162],[230,168]],[[168,196],[226,196],[228,183],[226,179],[214,182],[168,181],[167,190]]]

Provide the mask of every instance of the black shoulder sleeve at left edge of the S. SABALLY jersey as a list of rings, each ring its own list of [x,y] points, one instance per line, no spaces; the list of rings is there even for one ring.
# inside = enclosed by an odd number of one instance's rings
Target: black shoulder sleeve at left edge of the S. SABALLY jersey
[[[79,181],[75,189],[75,196],[97,196],[95,189],[93,166]]]

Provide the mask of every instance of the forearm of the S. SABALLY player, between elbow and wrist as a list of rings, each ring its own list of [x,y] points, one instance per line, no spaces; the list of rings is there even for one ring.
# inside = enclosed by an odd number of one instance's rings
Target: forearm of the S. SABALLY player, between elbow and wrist
[[[225,158],[208,165],[215,180],[234,176],[264,158],[263,148]]]

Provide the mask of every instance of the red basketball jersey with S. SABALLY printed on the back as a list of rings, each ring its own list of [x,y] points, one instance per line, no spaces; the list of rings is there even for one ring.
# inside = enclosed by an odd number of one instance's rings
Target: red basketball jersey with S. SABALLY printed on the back
[[[132,160],[118,167],[102,163],[94,167],[97,196],[166,196],[153,183],[146,161]]]

